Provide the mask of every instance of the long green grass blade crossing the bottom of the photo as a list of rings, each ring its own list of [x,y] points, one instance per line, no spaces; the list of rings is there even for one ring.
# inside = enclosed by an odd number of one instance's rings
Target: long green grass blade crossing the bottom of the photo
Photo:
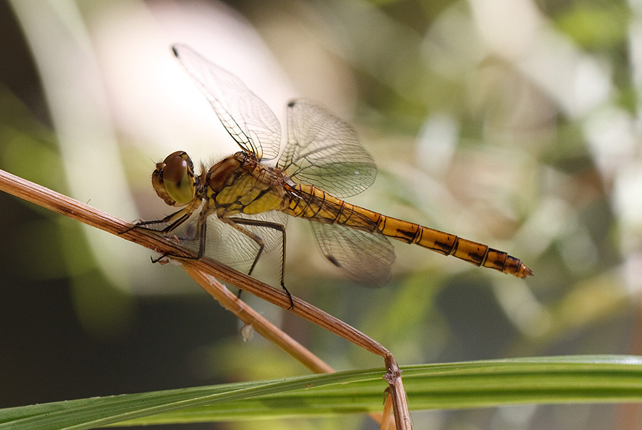
[[[642,357],[577,356],[403,367],[410,409],[642,401]],[[91,429],[380,411],[383,369],[98,397],[0,410],[0,429]],[[122,421],[126,421],[123,423]]]

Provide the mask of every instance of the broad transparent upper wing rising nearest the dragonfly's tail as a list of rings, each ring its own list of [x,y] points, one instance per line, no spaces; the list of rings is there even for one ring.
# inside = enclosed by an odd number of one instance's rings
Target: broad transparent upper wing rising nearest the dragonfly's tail
[[[278,167],[292,180],[340,198],[361,193],[377,176],[374,160],[355,129],[302,99],[287,105],[287,145]]]

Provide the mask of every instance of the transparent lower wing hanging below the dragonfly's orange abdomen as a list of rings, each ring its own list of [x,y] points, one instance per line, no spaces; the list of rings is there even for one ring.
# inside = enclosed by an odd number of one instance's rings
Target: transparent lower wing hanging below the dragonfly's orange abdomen
[[[312,222],[323,255],[355,281],[381,287],[390,280],[394,248],[379,231],[366,232],[339,224]]]

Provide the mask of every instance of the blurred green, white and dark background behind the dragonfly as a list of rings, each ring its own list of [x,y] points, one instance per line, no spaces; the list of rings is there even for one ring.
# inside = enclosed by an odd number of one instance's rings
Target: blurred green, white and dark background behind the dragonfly
[[[282,120],[355,125],[376,183],[350,199],[521,258],[517,280],[395,244],[351,285],[291,220],[292,294],[399,364],[641,354],[639,1],[0,2],[0,168],[128,220],[170,210],[153,163],[237,148],[175,61],[185,43]],[[0,193],[0,406],[306,374],[175,265]],[[398,246],[397,246],[398,245]],[[256,275],[277,285],[278,256]],[[382,360],[245,295],[336,369]],[[412,404],[412,399],[410,399]],[[633,405],[413,414],[417,429],[639,429]],[[169,426],[162,427],[170,428]],[[374,429],[361,416],[180,429]]]

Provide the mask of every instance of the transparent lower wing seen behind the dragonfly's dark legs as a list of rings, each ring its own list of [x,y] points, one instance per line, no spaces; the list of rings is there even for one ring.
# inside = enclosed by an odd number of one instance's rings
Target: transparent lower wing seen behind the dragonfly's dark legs
[[[246,220],[261,220],[274,222],[285,225],[287,215],[284,213],[270,211],[256,215],[245,215],[243,213],[234,215],[237,218]],[[176,233],[181,240],[181,244],[192,250],[198,250],[198,238],[194,237],[196,220],[198,215],[190,218],[190,224],[185,230]],[[274,249],[280,249],[283,237],[279,230],[270,227],[258,227],[255,225],[242,225],[246,230],[255,233],[265,241],[265,249],[268,252]],[[236,270],[247,273],[252,267],[256,255],[258,254],[259,245],[247,235],[235,230],[230,225],[221,221],[215,215],[208,217],[207,238],[205,242],[205,255],[213,258],[224,265],[234,267]],[[191,238],[191,240],[189,240]]]

